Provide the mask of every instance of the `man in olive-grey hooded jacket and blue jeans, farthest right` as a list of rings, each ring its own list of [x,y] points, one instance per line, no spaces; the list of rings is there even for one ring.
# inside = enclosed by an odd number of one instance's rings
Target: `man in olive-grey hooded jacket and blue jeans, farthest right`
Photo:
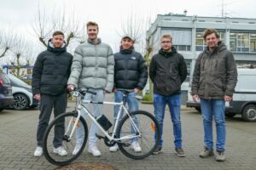
[[[196,59],[192,81],[195,102],[201,101],[205,132],[205,149],[200,157],[213,156],[212,117],[216,122],[216,161],[224,161],[225,101],[232,100],[237,82],[236,62],[233,54],[219,41],[218,31],[207,29],[203,35],[207,49]]]

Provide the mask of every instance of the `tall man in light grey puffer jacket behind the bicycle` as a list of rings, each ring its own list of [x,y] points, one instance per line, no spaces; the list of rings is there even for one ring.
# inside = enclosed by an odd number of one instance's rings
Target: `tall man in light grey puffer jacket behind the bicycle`
[[[95,22],[88,22],[86,26],[88,40],[75,49],[67,88],[89,88],[95,91],[96,95],[86,94],[84,99],[102,102],[105,92],[110,93],[113,89],[113,51],[108,44],[97,37],[99,28]],[[93,114],[96,117],[102,116],[102,105],[93,105]],[[89,152],[93,156],[101,156],[96,146],[97,131],[98,127],[92,123]],[[84,140],[84,129],[81,126],[77,130],[76,140],[73,155],[79,151]]]

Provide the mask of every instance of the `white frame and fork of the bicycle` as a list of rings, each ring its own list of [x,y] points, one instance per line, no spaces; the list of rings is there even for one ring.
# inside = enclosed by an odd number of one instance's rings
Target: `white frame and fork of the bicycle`
[[[74,92],[74,93],[78,93],[78,94],[73,94],[74,96],[76,97],[79,97],[79,92]],[[124,110],[124,112],[129,116],[129,119],[131,120],[131,126],[135,128],[135,130],[139,133],[138,135],[126,135],[126,136],[123,136],[123,137],[120,137],[119,139],[115,138],[114,135],[116,134],[116,130],[117,130],[117,127],[118,127],[118,124],[119,123],[116,123],[114,122],[114,127],[113,127],[113,133],[112,135],[110,136],[108,134],[108,131],[106,131],[102,125],[100,125],[100,123],[98,123],[96,121],[96,117],[93,116],[90,111],[88,111],[87,107],[85,104],[97,104],[97,105],[119,105],[119,112],[118,112],[118,115],[117,115],[117,119],[116,119],[116,122],[119,122],[119,118],[121,116],[121,111],[122,109]],[[96,126],[100,128],[100,130],[102,131],[102,133],[105,134],[105,136],[109,139],[109,141],[118,141],[118,140],[125,140],[125,139],[134,139],[134,138],[137,138],[137,137],[141,137],[141,134],[139,129],[137,128],[135,122],[133,122],[133,119],[131,118],[131,115],[129,113],[129,111],[126,109],[125,105],[124,105],[124,101],[121,101],[120,103],[116,103],[116,102],[108,102],[108,101],[103,101],[103,102],[96,102],[96,101],[92,101],[92,100],[84,100],[84,99],[79,99],[79,105],[78,105],[78,108],[77,108],[77,111],[78,111],[78,116],[73,124],[73,128],[72,128],[72,132],[70,133],[69,135],[69,139],[72,138],[73,136],[73,132],[75,130],[75,128],[77,127],[77,124],[79,123],[79,119],[80,117],[82,116],[82,113],[84,113],[85,116],[89,116],[90,117],[90,120],[92,120],[92,122],[96,123]],[[124,116],[123,116],[124,117]],[[70,122],[68,123],[68,126],[67,126],[67,132],[65,133],[65,135],[67,135],[67,133],[69,132],[69,129],[70,127],[72,126],[72,123],[73,123],[73,120],[70,120]]]

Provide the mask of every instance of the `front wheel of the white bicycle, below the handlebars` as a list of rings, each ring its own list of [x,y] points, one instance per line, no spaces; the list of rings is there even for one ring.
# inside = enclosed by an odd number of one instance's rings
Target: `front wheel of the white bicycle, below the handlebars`
[[[50,163],[57,166],[67,165],[83,152],[88,137],[88,127],[82,116],[80,117],[79,122],[75,125],[77,116],[78,113],[76,111],[67,112],[60,116],[56,116],[55,119],[49,123],[49,127],[47,127],[46,132],[44,133],[43,151],[45,158]],[[81,147],[79,147],[79,151],[73,152],[76,146],[78,129],[80,132],[79,134],[82,135],[83,141],[80,144]],[[73,134],[71,136],[72,131]],[[67,151],[65,156],[60,156],[54,149],[60,146]]]

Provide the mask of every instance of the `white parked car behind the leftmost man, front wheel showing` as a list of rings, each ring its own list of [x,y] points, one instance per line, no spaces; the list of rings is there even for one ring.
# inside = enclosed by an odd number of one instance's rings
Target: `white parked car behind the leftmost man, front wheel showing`
[[[10,105],[15,110],[25,110],[26,108],[34,108],[39,105],[39,101],[33,99],[32,87],[26,82],[23,82],[18,77],[8,74],[10,83],[12,85],[13,96],[15,102]]]

